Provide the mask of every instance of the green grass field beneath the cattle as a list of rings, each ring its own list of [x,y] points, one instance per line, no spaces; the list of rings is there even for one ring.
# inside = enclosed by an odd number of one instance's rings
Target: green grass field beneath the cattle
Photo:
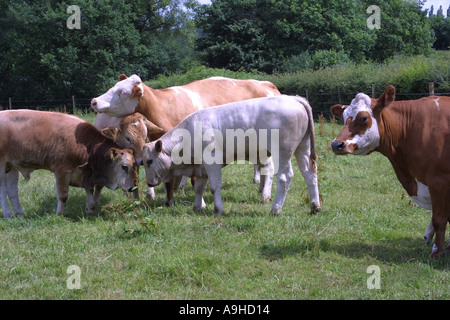
[[[105,190],[96,216],[72,188],[56,216],[53,175],[36,171],[19,185],[26,218],[0,219],[0,299],[449,299],[450,257],[429,259],[422,239],[431,212],[413,206],[380,154],[336,157],[340,127],[316,123],[315,216],[296,167],[280,216],[258,203],[250,165],[226,167],[222,217],[209,190],[194,212],[190,185],[174,208],[161,186],[149,207]],[[68,288],[71,265],[80,289]],[[372,265],[379,289],[368,288]]]

